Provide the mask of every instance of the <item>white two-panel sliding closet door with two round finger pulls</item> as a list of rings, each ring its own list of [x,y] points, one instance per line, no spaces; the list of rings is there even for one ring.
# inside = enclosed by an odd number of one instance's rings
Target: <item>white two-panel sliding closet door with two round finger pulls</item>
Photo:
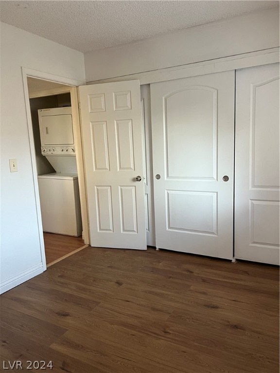
[[[151,85],[158,248],[233,257],[234,80]]]

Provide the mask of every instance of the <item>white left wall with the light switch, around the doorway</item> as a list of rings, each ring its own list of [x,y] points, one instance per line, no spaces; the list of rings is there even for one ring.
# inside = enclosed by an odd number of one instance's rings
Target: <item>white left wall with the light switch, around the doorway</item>
[[[1,31],[2,291],[42,271],[21,67],[85,82],[84,55],[16,27]],[[11,173],[9,159],[17,158]]]

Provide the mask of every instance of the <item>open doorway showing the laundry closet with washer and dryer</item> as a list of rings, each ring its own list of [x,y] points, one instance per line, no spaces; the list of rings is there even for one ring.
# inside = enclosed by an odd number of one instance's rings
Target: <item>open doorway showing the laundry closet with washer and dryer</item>
[[[85,196],[83,190],[79,190],[78,166],[81,165],[77,164],[76,145],[79,144],[76,144],[77,128],[73,120],[78,108],[72,107],[77,102],[73,100],[75,88],[69,85],[27,76],[27,86],[33,130],[30,141],[34,141],[37,173],[34,178],[38,183],[49,267],[88,243],[83,230],[85,219],[82,223],[81,200]]]

